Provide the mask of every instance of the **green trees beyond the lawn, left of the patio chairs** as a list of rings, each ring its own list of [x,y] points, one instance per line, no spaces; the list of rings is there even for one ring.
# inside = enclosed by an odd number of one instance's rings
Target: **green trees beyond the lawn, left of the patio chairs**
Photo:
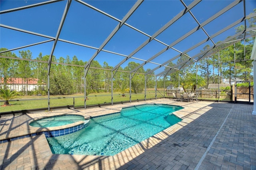
[[[8,49],[1,48],[0,51],[6,51]],[[19,56],[16,56],[12,52],[4,52],[1,54],[6,57],[33,59],[32,52],[30,50],[19,51]],[[7,88],[7,82],[9,78],[22,78],[22,91],[24,95],[34,95],[34,93],[40,93],[42,95],[47,94],[48,84],[48,59],[49,55],[42,56],[42,53],[38,55],[34,60],[44,61],[27,61],[27,60],[15,60],[10,58],[0,58],[0,74],[3,79],[2,86]],[[84,93],[84,65],[86,61],[78,60],[74,55],[72,59],[69,56],[60,57],[57,59],[52,56],[53,64],[50,71],[50,94],[51,95],[70,95]],[[74,66],[74,65],[80,65]],[[130,71],[140,64],[134,61],[128,63],[124,68],[119,67],[116,75],[113,78],[113,88],[116,91],[121,89],[128,89],[130,82]],[[100,93],[111,91],[111,69],[113,67],[108,65],[105,61],[103,65],[100,65],[98,61],[92,61],[90,69],[86,75],[86,93]],[[146,70],[149,71],[149,70]],[[144,90],[144,75],[138,73],[146,73],[143,67],[138,69],[137,73],[132,78],[132,91],[134,93],[140,93]],[[38,79],[38,85],[40,89],[34,89],[34,91],[28,91],[28,80]],[[151,76],[147,81],[147,87],[154,87],[154,78]],[[2,87],[1,86],[1,87]],[[17,89],[14,89],[17,90]],[[126,90],[127,92],[127,90]],[[30,93],[30,94],[28,94]]]

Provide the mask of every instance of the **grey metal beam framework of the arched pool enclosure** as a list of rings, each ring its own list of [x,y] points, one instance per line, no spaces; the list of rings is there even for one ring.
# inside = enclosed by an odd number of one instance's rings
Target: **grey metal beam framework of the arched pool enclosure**
[[[8,12],[15,12],[15,11],[18,11],[18,10],[24,10],[24,9],[28,9],[28,8],[33,8],[33,7],[37,7],[37,6],[42,6],[42,5],[46,5],[46,4],[51,4],[51,3],[55,3],[55,2],[59,2],[59,1],[62,1],[62,0],[49,0],[49,1],[46,1],[46,2],[41,2],[41,3],[37,3],[37,4],[32,4],[32,5],[29,5],[29,6],[23,6],[23,7],[19,7],[19,8],[13,8],[13,9],[9,9],[9,10],[3,10],[3,11],[0,11],[0,14],[5,14],[5,13],[8,13]],[[166,73],[166,71],[169,72],[174,72],[174,71],[179,71],[181,68],[185,67],[188,63],[188,61],[190,60],[193,60],[193,61],[198,61],[200,59],[203,59],[204,57],[207,57],[209,55],[212,55],[213,53],[217,52],[217,51],[212,51],[212,52],[209,52],[211,51],[212,49],[216,48],[218,51],[218,47],[224,43],[227,43],[226,41],[228,40],[232,40],[232,38],[236,38],[237,36],[240,36],[242,34],[244,34],[244,41],[245,41],[245,38],[246,38],[246,32],[248,31],[254,31],[254,29],[256,27],[253,27],[253,28],[249,28],[249,29],[246,29],[246,19],[248,18],[252,18],[252,17],[255,17],[256,16],[256,13],[254,14],[250,14],[248,16],[246,16],[246,5],[245,5],[245,0],[236,0],[234,2],[232,2],[230,5],[226,6],[225,8],[223,8],[222,10],[220,10],[220,12],[214,14],[212,17],[208,18],[208,20],[206,20],[205,22],[203,22],[202,24],[200,24],[198,22],[198,20],[194,17],[194,15],[192,14],[192,12],[190,11],[194,6],[196,6],[201,0],[198,0],[198,1],[194,1],[192,2],[189,6],[186,6],[186,4],[180,0],[182,2],[182,4],[184,5],[185,9],[182,10],[177,16],[175,16],[172,20],[170,20],[166,25],[164,25],[162,28],[160,28],[160,30],[158,30],[157,32],[155,32],[152,36],[149,36],[148,34],[138,30],[137,28],[134,28],[133,26],[130,26],[129,24],[126,23],[126,21],[128,20],[128,18],[134,13],[134,11],[140,6],[140,4],[142,4],[143,0],[138,0],[134,6],[129,10],[129,12],[126,14],[126,16],[124,16],[124,18],[122,20],[119,20],[117,18],[115,18],[114,16],[111,16],[110,14],[106,13],[106,12],[103,12],[102,10],[99,10],[98,8],[95,8],[94,6],[91,6],[90,4],[87,4],[86,2],[83,2],[82,0],[75,0],[76,2],[80,3],[80,4],[83,4],[89,8],[92,8],[93,10],[96,10],[97,12],[100,12],[101,14],[104,14],[110,18],[112,18],[113,20],[116,20],[118,23],[118,25],[116,26],[116,28],[109,34],[108,38],[100,45],[99,48],[96,48],[96,47],[92,47],[92,46],[89,46],[89,45],[84,45],[84,44],[81,44],[81,43],[76,43],[76,42],[71,42],[71,41],[68,41],[68,40],[63,40],[63,39],[60,39],[59,36],[60,36],[60,32],[62,30],[62,26],[64,25],[64,20],[66,18],[66,15],[68,13],[68,9],[70,7],[70,4],[72,2],[72,0],[68,0],[67,3],[66,3],[66,7],[64,9],[64,13],[62,15],[62,19],[61,19],[61,22],[60,22],[60,25],[58,27],[58,30],[57,30],[57,34],[56,34],[56,37],[52,37],[52,36],[46,36],[46,35],[43,35],[43,34],[38,34],[38,33],[35,33],[35,32],[30,32],[30,31],[27,31],[27,30],[22,30],[22,29],[19,29],[19,28],[14,28],[14,27],[11,27],[11,26],[5,26],[3,24],[0,24],[0,27],[4,27],[4,28],[8,28],[8,29],[12,29],[12,30],[16,30],[16,31],[20,31],[20,32],[25,32],[25,33],[28,33],[28,34],[33,34],[33,35],[36,35],[36,36],[41,36],[41,37],[44,37],[44,38],[49,38],[49,40],[45,40],[45,41],[42,41],[42,42],[37,42],[37,43],[32,43],[32,44],[29,44],[29,45],[25,45],[25,46],[22,46],[22,47],[16,47],[16,48],[13,48],[13,49],[8,49],[6,51],[1,51],[0,53],[4,53],[4,52],[8,52],[8,51],[13,51],[13,50],[16,50],[16,49],[21,49],[21,48],[24,48],[24,47],[30,47],[30,46],[33,46],[33,45],[38,45],[38,44],[42,44],[42,43],[47,43],[47,42],[52,42],[54,41],[53,45],[52,45],[52,50],[51,50],[51,53],[50,53],[50,57],[49,57],[49,60],[48,60],[48,110],[50,110],[50,78],[49,78],[49,75],[50,75],[50,67],[51,67],[51,64],[54,63],[52,62],[52,55],[54,53],[54,49],[56,47],[56,43],[58,41],[62,41],[62,42],[66,42],[66,43],[72,43],[72,44],[75,44],[75,45],[80,45],[80,46],[83,46],[83,47],[88,47],[88,48],[92,48],[92,49],[95,49],[96,52],[94,53],[94,55],[92,55],[92,57],[89,59],[89,61],[82,67],[84,67],[84,88],[86,89],[86,75],[87,75],[87,71],[89,68],[93,68],[93,67],[90,67],[90,64],[91,62],[94,60],[94,58],[98,55],[98,53],[100,53],[100,51],[105,51],[105,52],[108,52],[108,53],[113,53],[113,54],[116,54],[116,55],[120,55],[120,56],[123,56],[125,57],[120,63],[118,63],[118,65],[116,65],[113,69],[111,69],[111,72],[112,72],[112,81],[113,81],[113,77],[115,76],[115,73],[116,71],[118,70],[118,68],[120,67],[120,65],[122,65],[125,61],[127,61],[128,59],[130,58],[133,58],[133,59],[138,59],[140,61],[144,61],[144,63],[142,63],[140,66],[136,67],[135,69],[133,69],[132,71],[130,71],[130,101],[131,101],[131,79],[132,77],[136,74],[137,70],[142,67],[143,65],[145,65],[146,63],[153,63],[153,64],[156,64],[156,65],[159,65],[158,67],[155,67],[153,70],[147,72],[145,74],[145,99],[146,99],[146,77],[147,75],[150,75],[153,71],[155,71],[156,69],[164,66],[164,67],[168,67],[169,69],[161,72],[160,74],[157,74],[155,75],[156,76],[156,81],[157,81],[157,76],[162,76],[163,74]],[[221,31],[217,32],[216,34],[214,34],[213,36],[209,36],[209,34],[204,30],[203,26],[205,26],[206,24],[212,22],[212,20],[214,20],[215,18],[217,18],[218,16],[222,15],[223,13],[225,13],[226,11],[230,10],[231,8],[233,8],[234,6],[236,6],[237,4],[239,4],[240,2],[244,1],[244,18],[242,18],[241,20],[238,20],[237,22],[234,22],[233,24],[230,24],[229,26],[227,26],[226,28],[222,29]],[[161,42],[160,40],[157,40],[156,37],[161,34],[164,30],[166,30],[170,25],[172,25],[174,22],[176,22],[179,18],[181,18],[184,14],[186,14],[187,12],[190,13],[190,15],[194,18],[194,20],[198,23],[198,27],[190,30],[190,32],[187,32],[184,36],[178,38],[178,40],[174,41],[173,43],[171,43],[170,45],[167,45],[166,43],[164,42]],[[244,31],[242,32],[239,32],[237,33],[236,35],[222,41],[221,43],[214,43],[214,41],[212,40],[212,38],[218,36],[219,34],[221,34],[222,32],[232,28],[233,26],[235,26],[236,24],[240,23],[240,22],[244,22]],[[108,51],[108,50],[104,50],[104,46],[110,41],[110,39],[116,34],[116,32],[118,32],[118,30],[123,26],[123,25],[126,25],[138,32],[140,32],[141,34],[143,35],[146,35],[148,36],[148,40],[146,40],[144,43],[142,43],[140,46],[138,46],[132,53],[130,53],[130,55],[123,55],[123,54],[120,54],[120,53],[115,53],[113,51]],[[178,49],[175,49],[173,46],[176,45],[177,43],[179,43],[180,41],[184,40],[185,38],[187,38],[188,36],[190,36],[191,34],[193,34],[194,32],[196,32],[197,30],[199,29],[202,29],[204,31],[204,33],[207,35],[207,39],[206,40],[203,40],[202,42],[194,45],[193,47],[190,47],[189,49],[185,50],[183,53],[181,51],[179,51]],[[150,43],[152,40],[156,40],[157,42],[159,43],[162,43],[163,45],[165,45],[166,47],[164,49],[162,49],[161,51],[159,51],[156,55],[152,56],[150,59],[147,59],[147,60],[144,60],[144,59],[139,59],[139,58],[135,58],[133,57],[133,55],[135,53],[137,53],[138,51],[140,51],[140,49],[142,49],[144,46],[146,46],[148,43]],[[194,55],[194,57],[190,57],[189,55],[187,55],[186,53],[188,51],[191,51],[192,49],[198,47],[199,45],[202,45],[203,43],[207,42],[208,40],[210,40],[212,43],[213,43],[213,46],[210,47],[209,49],[205,50],[205,51],[202,51],[201,53],[198,53],[197,55]],[[238,41],[238,40],[234,40],[234,41]],[[164,62],[164,64],[158,64],[158,63],[154,63],[152,62],[152,59],[158,57],[160,54],[164,53],[165,51],[167,51],[168,49],[174,49],[175,51],[178,51],[180,54],[175,56],[175,57],[172,57],[170,60]],[[169,67],[167,66],[166,64],[169,63],[170,61],[173,61],[174,59],[177,59],[178,57],[182,56],[182,55],[186,55],[189,59],[183,61],[182,63],[178,63],[176,65],[174,65],[173,67]],[[201,57],[199,57],[200,55],[202,55]],[[3,56],[0,56],[0,57],[3,57]],[[195,59],[196,57],[199,57],[197,60]],[[35,60],[33,60],[35,61]],[[235,62],[235,61],[234,61]],[[58,64],[58,63],[57,63]],[[61,64],[61,63],[60,63]],[[65,65],[65,64],[64,64]],[[79,66],[81,67],[81,66]],[[177,68],[178,67],[178,68]],[[115,73],[113,74],[113,71],[115,71]],[[133,73],[133,74],[132,74]],[[164,76],[166,77],[166,75]],[[112,91],[113,91],[113,82],[112,82]],[[85,100],[86,100],[86,91],[85,91]],[[113,98],[113,95],[112,95],[112,98]],[[86,103],[85,103],[86,105]]]

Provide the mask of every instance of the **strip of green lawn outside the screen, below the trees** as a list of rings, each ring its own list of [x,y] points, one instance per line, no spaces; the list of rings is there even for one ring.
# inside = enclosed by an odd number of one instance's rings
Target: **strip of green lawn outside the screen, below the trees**
[[[163,93],[162,93],[163,94]],[[125,102],[130,101],[130,95],[127,93],[125,97],[122,94],[115,92],[113,96],[113,102]],[[162,97],[160,93],[157,93],[157,97]],[[147,99],[155,98],[154,91],[148,91],[146,94]],[[34,99],[34,100],[31,100]],[[132,94],[132,100],[144,99],[144,93]],[[4,102],[0,102],[0,113],[10,112],[10,111],[21,111],[28,109],[40,109],[48,108],[48,97],[47,96],[24,96],[14,99],[16,101],[10,101],[10,106],[2,106]],[[84,95],[59,95],[50,96],[50,107],[59,106],[73,106],[73,100],[75,107],[84,106]],[[95,93],[88,95],[88,100],[86,100],[86,105],[97,105],[103,103],[111,103],[111,93]],[[47,109],[46,109],[47,110]]]

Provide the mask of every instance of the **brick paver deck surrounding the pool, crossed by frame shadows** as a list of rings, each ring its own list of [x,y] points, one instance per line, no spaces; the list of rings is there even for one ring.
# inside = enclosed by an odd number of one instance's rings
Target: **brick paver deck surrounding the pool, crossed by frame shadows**
[[[104,115],[142,103],[181,105],[183,120],[115,156],[52,154],[44,134],[0,144],[0,169],[248,169],[256,170],[253,105],[157,99],[91,109],[64,109],[0,118],[0,140],[31,134],[35,118],[77,113]]]

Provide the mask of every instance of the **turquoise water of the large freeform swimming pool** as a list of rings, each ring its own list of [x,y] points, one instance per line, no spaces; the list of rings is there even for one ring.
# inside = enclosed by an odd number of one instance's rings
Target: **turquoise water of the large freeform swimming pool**
[[[170,113],[182,108],[163,104],[124,108],[90,119],[90,125],[78,132],[47,140],[54,154],[111,156],[180,122]]]

